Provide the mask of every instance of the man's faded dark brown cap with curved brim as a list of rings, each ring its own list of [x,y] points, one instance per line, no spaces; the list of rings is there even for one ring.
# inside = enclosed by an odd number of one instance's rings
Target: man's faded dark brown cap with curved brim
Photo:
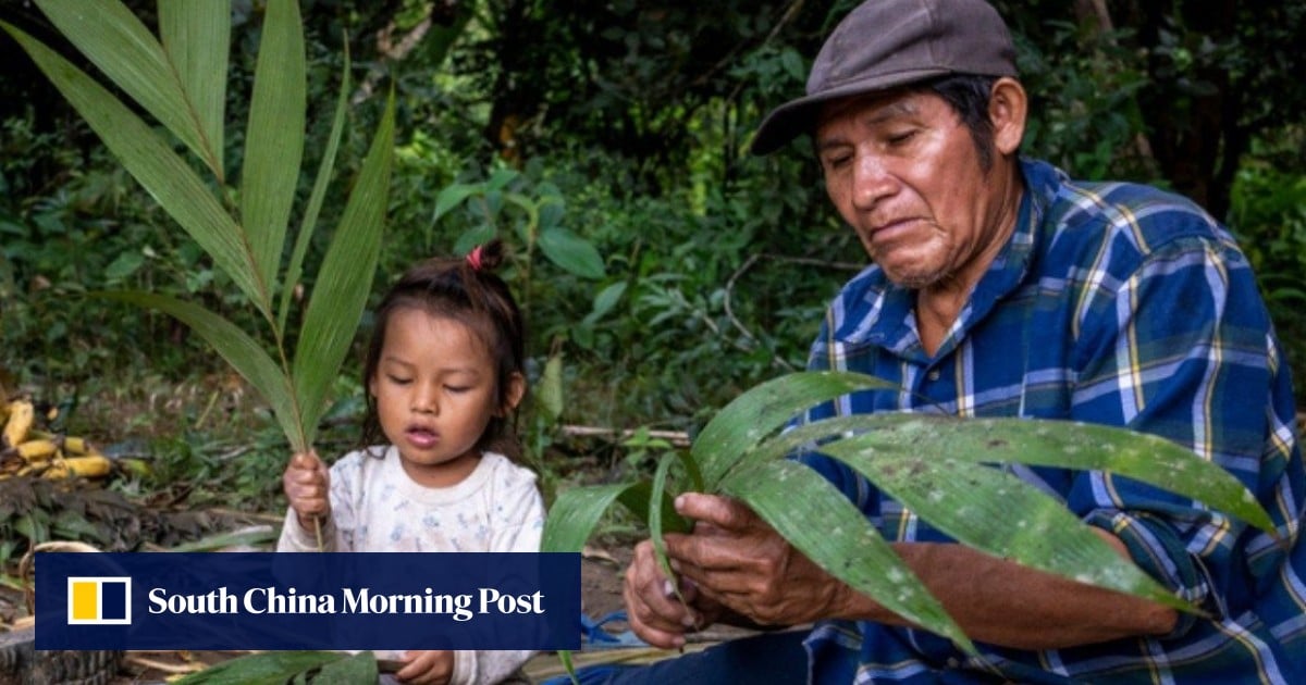
[[[821,103],[936,76],[1016,76],[1007,25],[983,0],[866,0],[835,27],[807,77],[807,95],[776,107],[752,154],[810,133]]]

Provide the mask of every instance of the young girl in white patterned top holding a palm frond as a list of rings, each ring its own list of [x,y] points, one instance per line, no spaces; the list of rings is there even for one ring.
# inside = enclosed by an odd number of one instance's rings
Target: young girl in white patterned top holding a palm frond
[[[491,271],[499,241],[410,269],[376,312],[362,450],[330,467],[295,454],[277,551],[538,552],[535,475],[515,464],[526,391],[521,313]],[[402,682],[502,682],[529,651],[379,652]]]

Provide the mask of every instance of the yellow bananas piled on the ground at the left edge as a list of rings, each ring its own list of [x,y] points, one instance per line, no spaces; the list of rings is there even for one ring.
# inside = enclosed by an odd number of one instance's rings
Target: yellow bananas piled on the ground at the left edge
[[[17,476],[102,478],[114,462],[85,438],[38,431],[37,407],[30,399],[0,404],[0,479]]]

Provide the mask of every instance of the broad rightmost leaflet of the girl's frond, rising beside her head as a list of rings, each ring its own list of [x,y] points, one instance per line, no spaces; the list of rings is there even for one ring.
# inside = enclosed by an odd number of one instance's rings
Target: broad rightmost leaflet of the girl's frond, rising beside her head
[[[326,410],[326,390],[349,354],[363,307],[367,305],[385,224],[393,147],[392,93],[372,146],[363,159],[358,183],[349,194],[345,214],[326,248],[295,350],[293,376],[308,445],[317,432],[317,419]]]

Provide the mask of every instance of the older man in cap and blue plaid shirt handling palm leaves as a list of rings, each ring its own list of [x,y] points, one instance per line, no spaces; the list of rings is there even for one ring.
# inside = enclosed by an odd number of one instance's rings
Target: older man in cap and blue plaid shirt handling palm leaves
[[[828,38],[807,95],[757,132],[756,154],[812,136],[829,198],[872,262],[831,304],[810,368],[904,388],[808,419],[943,407],[1156,433],[1239,478],[1280,539],[1109,474],[1016,468],[1205,616],[1181,613],[959,545],[841,463],[807,455],[893,540],[978,656],[852,591],[738,501],[696,493],[677,502],[695,532],[666,536],[688,607],[641,543],[626,579],[632,628],[670,648],[717,620],[815,624],[803,651],[767,638],[804,662],[744,676],[765,682],[1306,682],[1306,475],[1249,265],[1181,197],[1021,159],[1028,98],[1013,57],[981,0],[868,0]],[[713,678],[729,668],[695,659]],[[662,680],[692,678],[665,668]]]

